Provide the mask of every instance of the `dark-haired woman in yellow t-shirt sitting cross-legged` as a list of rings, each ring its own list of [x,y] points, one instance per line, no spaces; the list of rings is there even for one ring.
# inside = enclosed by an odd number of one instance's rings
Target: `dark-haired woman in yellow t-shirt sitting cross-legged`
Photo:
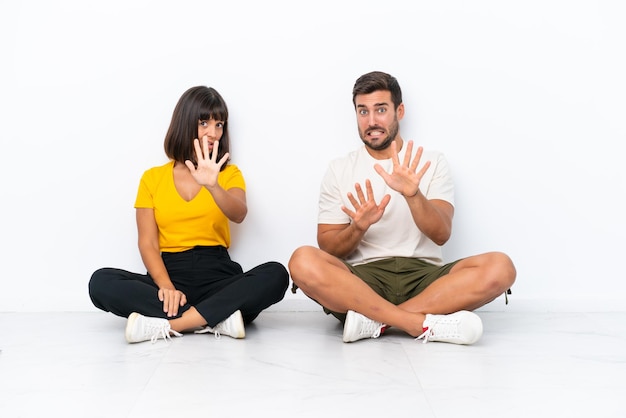
[[[94,305],[127,317],[129,343],[211,332],[244,338],[244,324],[283,299],[289,273],[277,262],[250,271],[230,259],[229,222],[247,214],[245,182],[229,163],[228,109],[213,88],[179,99],[165,136],[167,164],[144,172],[135,201],[147,274],[97,270]]]

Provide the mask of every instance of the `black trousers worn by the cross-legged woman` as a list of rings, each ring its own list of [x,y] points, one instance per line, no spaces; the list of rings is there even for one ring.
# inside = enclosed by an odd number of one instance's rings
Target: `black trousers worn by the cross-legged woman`
[[[261,311],[280,302],[289,285],[289,273],[282,264],[270,261],[243,272],[220,246],[161,256],[174,286],[187,296],[178,315],[193,306],[210,327],[238,309],[245,323],[252,322]],[[107,267],[96,270],[89,280],[93,304],[124,318],[132,312],[167,318],[157,293],[149,274]]]

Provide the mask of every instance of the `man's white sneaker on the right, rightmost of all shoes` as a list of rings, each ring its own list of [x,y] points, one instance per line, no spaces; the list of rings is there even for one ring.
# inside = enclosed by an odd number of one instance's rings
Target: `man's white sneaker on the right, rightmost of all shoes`
[[[439,341],[452,344],[474,344],[483,335],[480,317],[470,311],[459,311],[449,315],[427,314],[424,333],[416,339]]]

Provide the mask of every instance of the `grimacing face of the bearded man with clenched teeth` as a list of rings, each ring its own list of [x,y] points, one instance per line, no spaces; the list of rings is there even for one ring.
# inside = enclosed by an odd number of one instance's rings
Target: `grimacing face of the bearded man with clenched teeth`
[[[366,147],[381,151],[387,149],[399,130],[398,112],[393,108],[391,92],[375,91],[355,98],[359,136]],[[401,111],[401,106],[398,106]]]

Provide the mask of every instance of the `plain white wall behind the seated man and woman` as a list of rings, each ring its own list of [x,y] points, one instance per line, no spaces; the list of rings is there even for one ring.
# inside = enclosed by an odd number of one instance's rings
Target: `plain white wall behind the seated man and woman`
[[[144,271],[139,177],[199,84],[248,186],[231,255],[287,264],[316,243],[327,163],[361,143],[372,70],[400,81],[403,137],[451,164],[447,260],[507,252],[507,309],[623,309],[625,21],[618,0],[2,1],[0,311],[95,310],[95,269]]]

